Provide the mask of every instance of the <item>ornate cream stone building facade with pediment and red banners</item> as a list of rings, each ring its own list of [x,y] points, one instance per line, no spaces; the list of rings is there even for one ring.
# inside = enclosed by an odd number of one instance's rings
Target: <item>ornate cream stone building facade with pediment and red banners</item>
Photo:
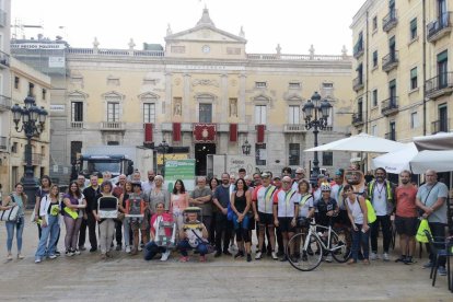
[[[66,49],[65,97],[53,100],[51,158],[69,166],[81,149],[98,144],[152,147],[162,140],[174,152],[197,160],[197,174],[209,174],[207,154],[242,154],[252,144],[256,167],[310,167],[313,133],[302,107],[317,91],[334,106],[320,143],[349,133],[352,100],[351,58],[247,54],[244,31],[226,33],[208,10],[195,27],[173,33],[165,47],[137,50]],[[150,50],[156,49],[156,50]],[[54,79],[54,78],[53,78]],[[342,114],[341,114],[342,113]],[[346,113],[346,114],[345,114]],[[320,154],[321,166],[345,166],[346,153]]]

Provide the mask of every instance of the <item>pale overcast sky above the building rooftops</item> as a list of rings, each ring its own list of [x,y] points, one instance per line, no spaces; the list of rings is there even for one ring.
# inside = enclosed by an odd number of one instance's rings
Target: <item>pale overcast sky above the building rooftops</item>
[[[92,47],[97,37],[101,48],[136,49],[142,43],[164,46],[167,24],[173,33],[194,27],[205,4],[218,28],[237,35],[244,27],[246,51],[339,55],[342,45],[351,54],[352,16],[364,0],[12,0],[11,23],[43,25],[44,30],[12,34],[27,38],[42,32],[63,36],[72,47]]]

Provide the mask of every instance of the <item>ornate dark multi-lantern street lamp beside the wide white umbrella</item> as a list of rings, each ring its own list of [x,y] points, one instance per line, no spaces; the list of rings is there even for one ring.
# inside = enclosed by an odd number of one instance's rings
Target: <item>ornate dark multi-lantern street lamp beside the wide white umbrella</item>
[[[321,95],[315,92],[311,100],[307,100],[303,105],[302,112],[305,119],[305,129],[313,128],[314,133],[314,147],[317,147],[317,133],[320,130],[327,128],[327,118],[330,115],[332,105],[327,100],[321,101]],[[318,116],[320,115],[320,116]],[[313,173],[311,175],[311,182],[317,181],[320,175],[320,161],[317,159],[317,151],[314,152],[313,159]]]

